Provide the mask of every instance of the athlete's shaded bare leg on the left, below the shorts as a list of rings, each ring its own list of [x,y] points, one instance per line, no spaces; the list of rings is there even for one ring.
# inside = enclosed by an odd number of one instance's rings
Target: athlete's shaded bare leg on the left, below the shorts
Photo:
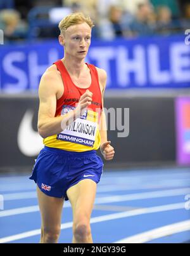
[[[42,219],[40,243],[58,243],[64,199],[46,196],[38,186],[37,197]]]

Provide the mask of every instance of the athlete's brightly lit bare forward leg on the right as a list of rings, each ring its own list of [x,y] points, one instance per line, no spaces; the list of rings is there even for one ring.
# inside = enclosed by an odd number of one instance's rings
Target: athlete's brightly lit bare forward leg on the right
[[[85,179],[66,192],[73,210],[73,243],[92,243],[90,219],[96,196],[96,182]]]

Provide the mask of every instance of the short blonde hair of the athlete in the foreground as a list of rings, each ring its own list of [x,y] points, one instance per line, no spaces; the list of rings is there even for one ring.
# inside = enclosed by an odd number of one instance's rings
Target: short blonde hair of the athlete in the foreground
[[[89,27],[94,27],[94,24],[89,16],[85,17],[83,13],[71,13],[70,15],[67,15],[63,20],[60,21],[59,29],[61,34],[65,32],[68,27],[71,27],[73,25],[87,23]]]

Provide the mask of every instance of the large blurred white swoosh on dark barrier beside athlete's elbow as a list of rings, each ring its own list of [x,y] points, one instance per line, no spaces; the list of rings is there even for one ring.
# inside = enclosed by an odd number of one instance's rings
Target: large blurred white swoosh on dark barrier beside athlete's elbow
[[[18,148],[25,156],[37,156],[44,147],[42,137],[32,128],[34,111],[28,109],[18,128]]]

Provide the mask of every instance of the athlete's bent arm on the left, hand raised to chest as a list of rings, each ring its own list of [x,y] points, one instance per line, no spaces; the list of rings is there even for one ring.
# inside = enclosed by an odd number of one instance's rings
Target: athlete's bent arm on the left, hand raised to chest
[[[70,111],[64,116],[54,117],[56,112],[56,95],[59,86],[63,82],[54,71],[46,71],[39,84],[39,114],[37,128],[42,138],[61,133],[66,126],[70,125],[76,118],[80,117],[81,112],[91,104],[91,92],[86,91],[79,100],[75,111]]]

